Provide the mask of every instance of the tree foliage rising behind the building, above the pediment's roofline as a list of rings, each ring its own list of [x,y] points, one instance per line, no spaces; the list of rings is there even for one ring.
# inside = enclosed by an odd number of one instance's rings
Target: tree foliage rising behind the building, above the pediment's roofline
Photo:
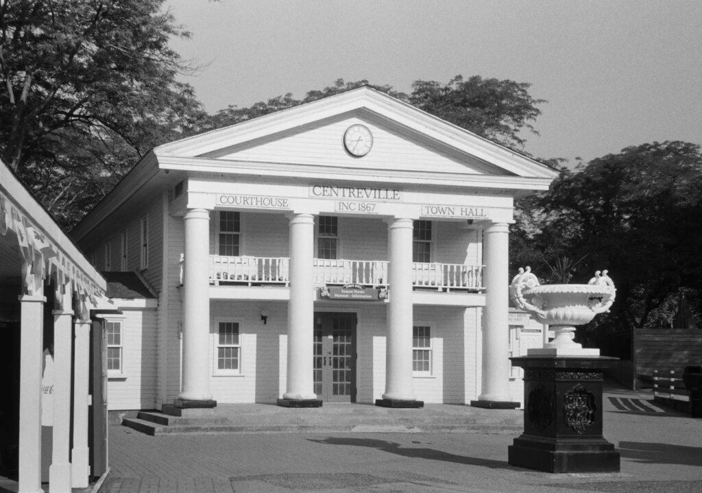
[[[545,103],[545,100],[529,96],[530,84],[482,79],[479,76],[464,80],[461,75],[457,75],[447,84],[418,80],[412,84],[413,91],[409,95],[396,91],[388,84],[378,86],[369,84],[367,80],[345,82],[343,79],[337,79],[333,86],[309,91],[302,99],[295,99],[291,93],[287,93],[285,96],[260,101],[250,107],[227,107],[213,115],[205,125],[211,129],[233,125],[361,86],[376,88],[420,110],[522,153],[525,140],[519,137],[519,132],[527,129],[536,133],[530,122],[541,114],[537,105]]]

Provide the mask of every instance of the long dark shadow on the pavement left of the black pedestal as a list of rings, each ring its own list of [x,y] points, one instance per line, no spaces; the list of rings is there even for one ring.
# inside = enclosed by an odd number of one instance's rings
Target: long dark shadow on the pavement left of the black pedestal
[[[491,469],[512,468],[507,461],[494,461],[492,459],[479,459],[477,457],[467,457],[463,455],[449,454],[440,450],[417,448],[417,447],[402,447],[399,443],[388,442],[386,440],[374,440],[371,438],[325,438],[324,440],[315,440],[307,438],[310,442],[322,443],[325,445],[349,445],[352,447],[369,447],[371,449],[382,450],[390,454],[397,454],[403,457],[413,459],[430,459],[432,461],[455,462],[456,464],[465,464],[468,466],[483,466]]]

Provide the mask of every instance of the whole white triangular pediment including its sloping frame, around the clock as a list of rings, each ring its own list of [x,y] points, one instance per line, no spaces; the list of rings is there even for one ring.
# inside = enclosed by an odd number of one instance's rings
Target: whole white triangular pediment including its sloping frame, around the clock
[[[343,134],[354,124],[373,136],[363,157],[343,146]],[[162,145],[154,153],[369,171],[555,176],[548,166],[367,87]]]

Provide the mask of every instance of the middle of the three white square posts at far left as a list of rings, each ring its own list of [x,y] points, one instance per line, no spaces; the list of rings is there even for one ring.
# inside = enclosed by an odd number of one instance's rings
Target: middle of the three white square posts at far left
[[[73,310],[53,310],[53,452],[48,470],[52,493],[71,492],[72,325]]]

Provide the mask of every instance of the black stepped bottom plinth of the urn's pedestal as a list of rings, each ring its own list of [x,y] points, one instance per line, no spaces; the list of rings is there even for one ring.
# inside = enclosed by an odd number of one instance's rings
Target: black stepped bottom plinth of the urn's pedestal
[[[620,468],[619,452],[604,439],[549,443],[522,435],[508,447],[507,460],[545,473],[618,473]]]

